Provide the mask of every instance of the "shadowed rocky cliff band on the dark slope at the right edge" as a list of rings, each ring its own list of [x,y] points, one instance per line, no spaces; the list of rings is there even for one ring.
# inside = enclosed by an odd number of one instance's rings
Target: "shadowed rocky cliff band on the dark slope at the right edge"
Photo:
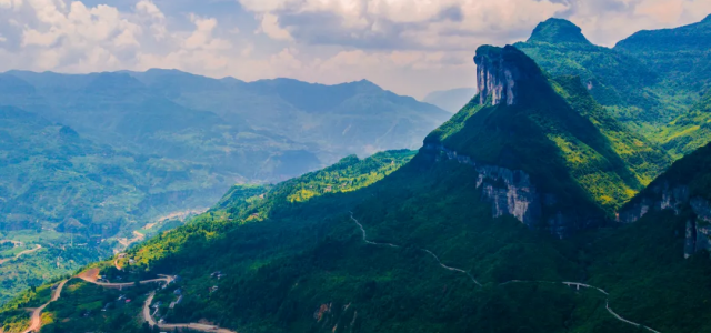
[[[668,182],[651,185],[647,195],[620,211],[618,221],[632,223],[652,211],[673,210],[679,214],[684,209],[693,212],[687,221],[684,258],[700,250],[711,250],[711,203],[690,198],[689,188],[684,185],[672,186]]]

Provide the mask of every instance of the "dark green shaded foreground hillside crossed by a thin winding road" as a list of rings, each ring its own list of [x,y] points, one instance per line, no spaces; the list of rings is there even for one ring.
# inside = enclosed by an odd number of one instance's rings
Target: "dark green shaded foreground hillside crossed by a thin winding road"
[[[645,220],[554,240],[511,216],[492,219],[472,190],[477,179],[470,165],[420,153],[352,192],[296,203],[283,195],[242,196],[131,250],[137,263],[128,272],[181,276],[156,296],[169,322],[204,320],[248,333],[645,331],[607,306],[660,332],[709,329],[703,300],[711,289],[702,281],[711,263],[705,255],[683,259],[680,221]],[[280,186],[293,192],[308,183]],[[252,204],[271,206],[260,222],[252,220]],[[170,309],[177,289],[183,301]],[[92,306],[113,300],[101,301],[93,289],[76,292],[70,300]],[[43,332],[81,332],[88,323],[113,332],[108,323],[126,313],[84,317],[57,305]],[[133,325],[140,332],[140,321]]]

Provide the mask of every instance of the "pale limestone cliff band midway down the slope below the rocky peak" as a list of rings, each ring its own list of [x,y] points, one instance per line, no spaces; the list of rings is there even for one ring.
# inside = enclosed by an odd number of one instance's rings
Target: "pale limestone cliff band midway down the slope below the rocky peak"
[[[548,230],[559,238],[577,231],[571,218],[561,212],[543,218],[543,210],[555,204],[555,195],[539,192],[528,173],[477,162],[442,144],[428,143],[424,149],[435,153],[438,160],[472,165],[478,173],[477,190],[481,191],[482,201],[491,203],[494,218],[513,215],[531,229]]]

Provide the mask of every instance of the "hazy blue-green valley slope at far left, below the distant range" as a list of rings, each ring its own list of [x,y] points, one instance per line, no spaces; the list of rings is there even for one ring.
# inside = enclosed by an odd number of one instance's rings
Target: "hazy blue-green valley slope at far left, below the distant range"
[[[152,216],[210,206],[226,190],[209,165],[117,151],[12,107],[0,107],[0,240],[42,246],[0,264],[0,302],[110,255]]]

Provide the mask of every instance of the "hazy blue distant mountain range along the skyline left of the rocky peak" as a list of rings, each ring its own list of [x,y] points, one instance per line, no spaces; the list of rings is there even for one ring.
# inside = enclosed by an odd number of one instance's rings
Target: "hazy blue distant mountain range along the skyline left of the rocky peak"
[[[283,180],[351,153],[418,148],[423,135],[450,117],[368,81],[246,83],[176,70],[87,75],[10,71],[2,77],[0,82],[32,90],[23,98],[0,90],[2,103],[66,123],[102,143],[210,161],[233,179]]]

